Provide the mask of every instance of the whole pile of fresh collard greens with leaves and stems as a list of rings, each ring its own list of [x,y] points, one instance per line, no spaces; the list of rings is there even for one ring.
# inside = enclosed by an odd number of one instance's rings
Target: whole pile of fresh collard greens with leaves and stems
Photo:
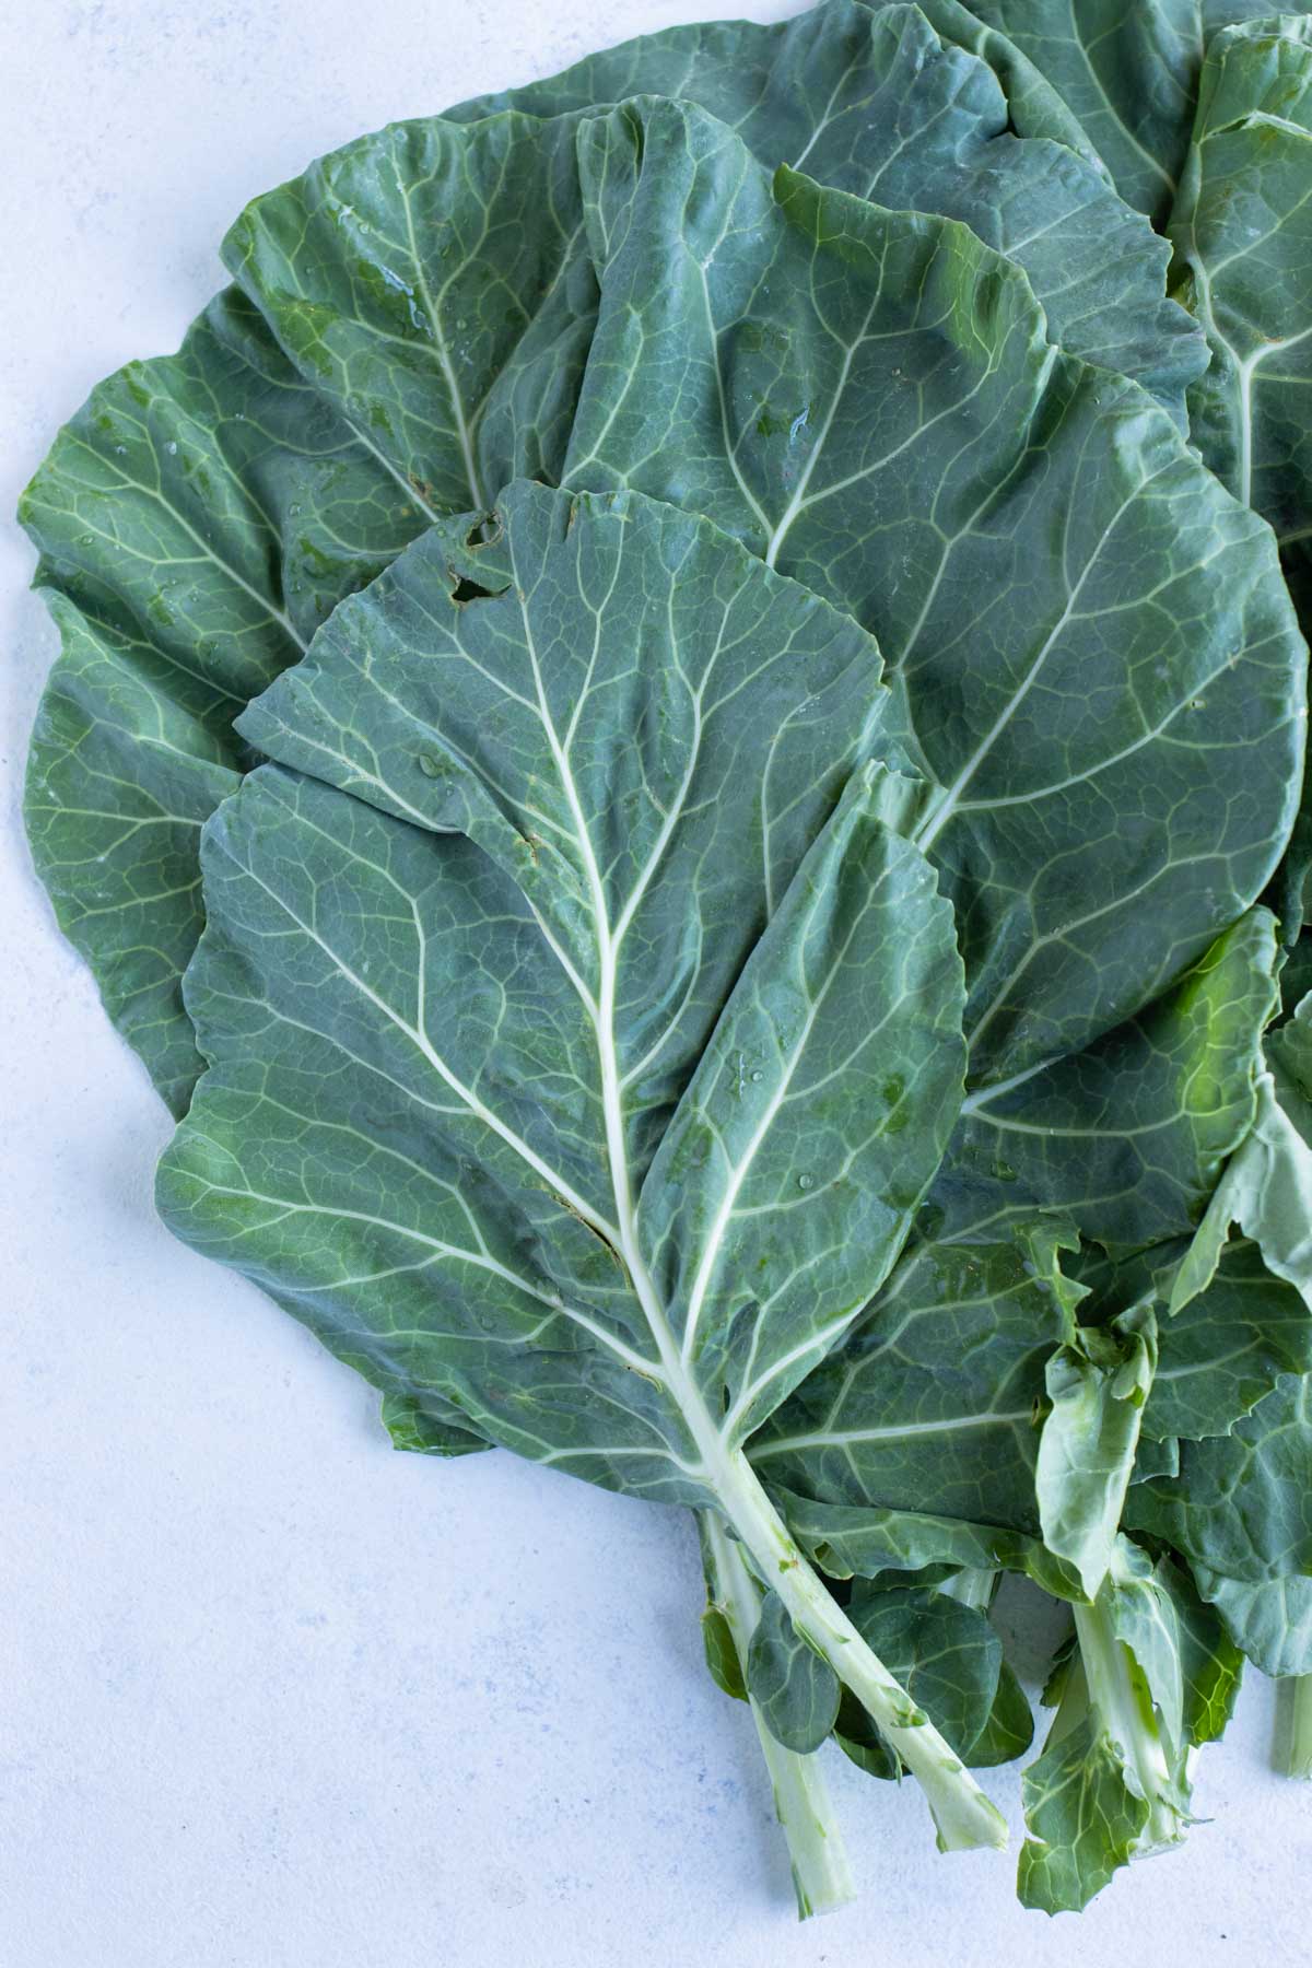
[[[224,260],[24,500],[165,1220],[399,1446],[696,1511],[803,1913],[830,1734],[1003,1842],[1027,1574],[1084,1905],[1312,1671],[1308,18],[671,30]]]

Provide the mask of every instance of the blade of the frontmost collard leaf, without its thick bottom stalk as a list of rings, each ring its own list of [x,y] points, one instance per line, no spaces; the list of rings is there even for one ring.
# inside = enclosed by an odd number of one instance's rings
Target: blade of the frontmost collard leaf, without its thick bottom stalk
[[[639,1385],[645,1368],[633,1372],[633,1360],[622,1354],[631,1354],[635,1338],[645,1366],[653,1366],[651,1340],[612,1256],[622,1244],[608,1163],[622,1155],[616,1179],[627,1181],[626,1208],[637,1210],[643,1226],[643,1263],[677,1293],[688,1370],[730,1391],[726,1437],[742,1439],[755,1403],[783,1397],[812,1352],[832,1344],[842,1301],[846,1317],[862,1303],[869,1256],[881,1244],[879,1212],[887,1216],[885,1265],[891,1261],[919,1200],[913,1157],[923,1157],[919,1187],[930,1173],[930,1153],[936,1159],[915,1118],[924,1100],[930,1112],[944,1110],[960,1059],[950,1025],[950,919],[932,899],[923,860],[875,817],[887,803],[887,773],[854,783],[812,848],[812,870],[787,890],[787,913],[779,899],[842,779],[832,707],[842,699],[860,732],[852,708],[864,679],[867,738],[881,701],[877,657],[852,624],[765,575],[704,522],[633,496],[570,500],[523,486],[504,498],[500,512],[515,590],[460,604],[441,577],[427,581],[421,541],[384,588],[336,616],[307,673],[277,691],[271,708],[258,707],[244,720],[254,742],[271,754],[289,752],[295,762],[295,746],[283,744],[279,703],[301,693],[311,705],[346,703],[350,740],[376,764],[368,791],[380,805],[403,807],[413,825],[397,830],[358,801],[344,805],[338,793],[277,771],[264,771],[242,805],[224,809],[210,876],[210,909],[222,927],[207,947],[209,982],[207,966],[195,972],[191,1004],[226,1057],[222,1071],[207,1078],[203,1120],[179,1139],[165,1197],[177,1197],[193,1234],[220,1242],[230,1236],[230,1204],[207,1191],[205,1169],[218,1157],[214,1128],[234,1128],[234,1102],[244,1108],[246,1086],[271,1073],[269,1059],[252,1059],[252,1047],[275,1012],[275,1029],[285,1033],[269,1037],[268,1049],[281,1059],[287,1092],[295,1088],[301,1106],[311,1108],[301,1124],[315,1118],[327,1130],[313,1147],[303,1138],[297,1155],[307,1179],[315,1171],[325,1189],[315,1216],[330,1216],[334,1199],[348,1210],[348,1197],[382,1181],[386,1161],[362,1183],[358,1163],[338,1165],[328,1155],[336,1126],[368,1138],[356,1106],[364,1104],[368,1122],[372,1076],[401,1100],[384,1141],[391,1145],[395,1130],[395,1145],[413,1163],[413,1187],[378,1199],[391,1206],[391,1214],[380,1210],[382,1224],[354,1228],[360,1218],[344,1214],[327,1244],[315,1230],[315,1289],[342,1269],[334,1265],[334,1244],[344,1256],[374,1248],[378,1238],[395,1263],[388,1319],[403,1317],[407,1307],[413,1330],[399,1344],[401,1352],[415,1348],[419,1360],[435,1265],[439,1275],[448,1261],[456,1265],[470,1305],[484,1317],[506,1287],[527,1301],[525,1313],[537,1305],[537,1321],[539,1287],[551,1291],[537,1277],[545,1267],[555,1289],[596,1293],[608,1319],[627,1328],[629,1340],[608,1372]],[[411,622],[425,640],[407,669]],[[388,720],[397,705],[403,714],[393,732]],[[327,712],[321,726],[332,740],[346,730]],[[633,746],[635,730],[649,734],[647,746]],[[773,748],[763,771],[749,775],[742,760],[755,754],[757,730],[773,736]],[[848,740],[848,762],[860,744]],[[325,773],[336,769],[348,785],[364,783],[346,756],[346,736],[342,750],[325,750],[317,764]],[[393,783],[403,791],[393,793]],[[325,838],[336,813],[342,830]],[[616,832],[620,813],[626,825]],[[462,827],[476,848],[452,838],[439,858],[439,836],[421,829],[452,827]],[[885,870],[875,868],[881,858]],[[850,888],[844,901],[844,882],[828,892],[824,882],[840,868],[848,880],[848,866],[850,882],[864,870],[867,888]],[[334,943],[315,929],[325,884],[336,903]],[[397,903],[397,927],[378,954],[368,941],[372,890],[409,897]],[[883,911],[901,907],[893,892],[905,892],[911,907],[919,907],[913,895],[923,899],[926,927],[936,925],[928,945],[915,931],[897,953],[885,941]],[[757,949],[726,1010],[744,954],[767,917],[785,968],[775,978]],[[283,923],[285,960],[271,962],[268,976],[260,964],[260,990],[238,1000],[232,986],[256,962],[266,921]],[[734,925],[736,939],[722,923]],[[435,953],[431,939],[439,933]],[[425,966],[439,954],[447,974],[429,982]],[[443,1031],[441,1053],[425,1025],[433,990],[452,990],[460,1006],[458,1023]],[[879,1010],[864,1023],[858,1000],[867,990]],[[889,1043],[903,1031],[919,1033],[911,1049]],[[608,1035],[602,1051],[600,1033]],[[500,1049],[504,1065],[496,1063]],[[350,1078],[342,1078],[342,1065],[328,1073],[338,1055]],[[824,1100],[806,1106],[812,1076],[820,1086],[842,1084],[865,1108],[869,1118],[856,1134],[846,1122],[836,1126]],[[454,1110],[429,1122],[425,1100],[435,1082],[448,1088]],[[291,1114],[275,1114],[273,1104],[269,1134],[279,1138],[295,1124]],[[781,1114],[789,1126],[775,1130]],[[254,1120],[246,1118],[230,1145],[252,1177],[268,1153],[256,1145]],[[443,1200],[439,1173],[447,1167],[454,1175],[484,1136],[478,1155],[492,1171],[488,1181],[521,1197],[519,1208],[541,1244],[527,1283],[511,1263],[506,1224],[498,1218],[494,1226],[492,1193],[474,1206],[464,1185]],[[869,1177],[871,1155],[887,1173],[862,1193],[856,1169]],[[405,1220],[427,1195],[421,1171],[433,1171],[431,1224]],[[401,1220],[397,1200],[409,1204]],[[688,1214],[694,1204],[696,1216]],[[842,1234],[850,1208],[862,1212],[860,1240]],[[482,1234],[496,1254],[490,1269],[472,1263],[470,1234]],[[433,1236],[448,1236],[452,1252],[425,1242]],[[254,1265],[275,1279],[279,1265],[297,1275],[297,1263],[311,1258],[297,1252],[299,1240],[271,1242],[277,1248],[264,1261],[254,1258]],[[667,1263],[665,1250],[677,1254],[683,1271],[673,1258]],[[795,1252],[803,1269],[777,1260],[777,1250]],[[771,1279],[771,1295],[753,1299],[744,1295],[744,1281],[757,1263]],[[352,1317],[368,1321],[370,1283],[342,1285],[342,1303],[358,1307]],[[797,1307],[791,1319],[779,1311],[779,1344],[771,1338],[775,1293],[783,1295],[781,1307]],[[557,1313],[547,1321],[553,1344],[561,1317],[568,1319]],[[537,1352],[545,1350],[543,1338]],[[527,1350],[527,1360],[507,1356],[504,1368],[511,1378],[531,1374],[531,1360]],[[447,1372],[437,1348],[435,1374]],[[496,1382],[496,1350],[488,1372]],[[515,1407],[490,1403],[458,1372],[448,1385],[423,1372],[415,1382],[437,1385],[494,1437],[529,1445],[531,1427],[525,1437],[507,1429]],[[551,1433],[545,1407],[541,1419],[549,1439],[537,1446],[553,1460],[568,1460],[570,1429],[565,1437]],[[608,1470],[606,1450],[582,1446],[582,1417],[576,1425],[582,1460]],[[631,1417],[622,1433],[631,1435]],[[679,1435],[677,1427],[669,1437],[677,1460],[686,1446]],[[633,1486],[624,1470],[612,1468],[610,1476]],[[679,1488],[673,1468],[659,1480]]]

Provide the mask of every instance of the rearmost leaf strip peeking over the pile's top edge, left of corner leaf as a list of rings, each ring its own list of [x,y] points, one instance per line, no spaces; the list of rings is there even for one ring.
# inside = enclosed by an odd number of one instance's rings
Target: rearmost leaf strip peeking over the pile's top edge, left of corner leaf
[[[730,124],[767,169],[893,211],[960,218],[1025,270],[1052,340],[1133,376],[1180,419],[1204,354],[1164,299],[1166,248],[1076,155],[1066,134],[1009,126],[1009,94],[960,10],[828,0],[797,20],[698,22],[590,55],[565,75],[452,112],[559,116],[627,96],[677,96]],[[958,45],[954,45],[958,43]],[[982,49],[984,53],[984,49]]]

